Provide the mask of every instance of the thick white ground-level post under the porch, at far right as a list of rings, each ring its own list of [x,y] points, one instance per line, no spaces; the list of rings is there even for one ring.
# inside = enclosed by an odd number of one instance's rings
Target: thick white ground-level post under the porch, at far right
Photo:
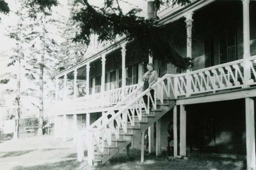
[[[254,99],[245,98],[247,170],[256,169]]]

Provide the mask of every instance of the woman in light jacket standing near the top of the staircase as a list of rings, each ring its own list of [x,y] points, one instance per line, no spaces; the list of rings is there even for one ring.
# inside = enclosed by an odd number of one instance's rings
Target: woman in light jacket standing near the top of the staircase
[[[156,83],[158,74],[156,71],[154,71],[154,65],[152,63],[147,64],[148,71],[143,75],[143,81],[144,81],[144,91],[149,88],[150,94],[152,96],[152,99],[154,101],[154,90],[151,88],[151,86]],[[145,104],[147,106],[147,95],[143,96],[143,99],[145,101]],[[152,101],[149,99],[149,109],[152,108]]]

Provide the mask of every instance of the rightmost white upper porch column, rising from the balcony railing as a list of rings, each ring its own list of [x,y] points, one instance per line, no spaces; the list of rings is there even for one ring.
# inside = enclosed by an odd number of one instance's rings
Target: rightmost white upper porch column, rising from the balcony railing
[[[244,36],[244,87],[248,87],[251,78],[250,66],[248,57],[250,54],[250,17],[249,17],[249,0],[242,0],[243,2],[243,36]]]

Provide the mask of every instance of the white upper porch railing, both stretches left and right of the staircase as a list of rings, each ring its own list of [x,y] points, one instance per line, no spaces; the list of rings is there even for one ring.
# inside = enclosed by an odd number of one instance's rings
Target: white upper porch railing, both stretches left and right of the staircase
[[[244,63],[247,65],[245,71]],[[249,57],[246,61],[241,59],[169,76],[173,79],[174,89],[171,98],[174,99],[249,87],[256,85],[256,56]],[[140,87],[142,87],[142,84],[130,85],[124,88],[91,94],[76,99],[58,101],[54,106],[56,109],[55,113],[68,113],[75,110],[114,106],[122,100],[122,93],[124,93],[124,97],[126,97]],[[124,92],[122,92],[123,89]]]

